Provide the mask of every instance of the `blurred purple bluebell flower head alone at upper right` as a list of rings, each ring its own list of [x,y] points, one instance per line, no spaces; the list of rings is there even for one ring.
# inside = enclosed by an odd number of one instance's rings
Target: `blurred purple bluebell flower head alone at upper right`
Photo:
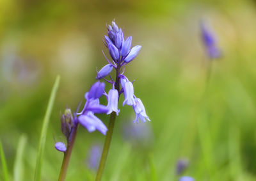
[[[207,55],[211,59],[220,58],[221,51],[217,46],[216,36],[214,36],[214,33],[212,33],[212,31],[209,28],[207,28],[203,22],[201,22],[200,27],[202,40],[204,42]]]

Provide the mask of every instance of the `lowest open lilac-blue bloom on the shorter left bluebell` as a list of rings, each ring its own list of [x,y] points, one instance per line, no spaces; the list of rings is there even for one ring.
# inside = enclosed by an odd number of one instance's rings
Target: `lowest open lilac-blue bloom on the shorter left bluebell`
[[[88,132],[93,132],[99,130],[102,134],[106,135],[108,128],[102,121],[97,118],[91,111],[86,112],[78,117],[78,121],[83,127],[85,127]]]

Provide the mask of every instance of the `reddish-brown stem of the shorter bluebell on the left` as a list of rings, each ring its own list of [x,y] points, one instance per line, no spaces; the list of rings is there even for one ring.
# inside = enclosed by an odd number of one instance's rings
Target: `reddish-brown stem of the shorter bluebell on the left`
[[[64,153],[64,157],[61,165],[61,171],[59,175],[59,181],[65,180],[67,169],[68,169],[68,163],[72,153],[72,148],[76,139],[77,127],[78,127],[78,124],[74,127],[74,131],[72,132],[72,135],[71,135],[71,141],[70,143],[68,143],[67,151]]]

